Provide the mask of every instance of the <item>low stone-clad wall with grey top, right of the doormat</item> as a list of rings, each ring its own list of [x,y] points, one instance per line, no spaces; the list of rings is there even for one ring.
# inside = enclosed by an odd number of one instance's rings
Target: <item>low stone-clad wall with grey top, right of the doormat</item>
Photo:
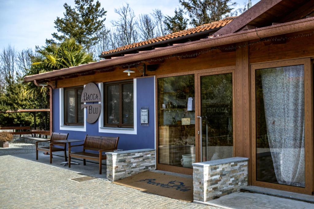
[[[203,203],[240,191],[247,185],[248,158],[234,157],[193,163],[194,201]]]

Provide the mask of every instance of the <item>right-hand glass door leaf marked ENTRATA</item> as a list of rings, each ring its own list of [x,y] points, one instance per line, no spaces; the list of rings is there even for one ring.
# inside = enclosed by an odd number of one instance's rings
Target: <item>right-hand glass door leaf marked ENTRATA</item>
[[[233,157],[233,72],[198,74],[198,85],[200,161]]]

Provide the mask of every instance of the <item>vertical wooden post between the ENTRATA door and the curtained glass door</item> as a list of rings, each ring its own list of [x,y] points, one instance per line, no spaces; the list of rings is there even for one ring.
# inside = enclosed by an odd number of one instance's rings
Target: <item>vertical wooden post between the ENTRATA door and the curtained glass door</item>
[[[236,49],[235,80],[236,156],[250,158],[250,82],[248,46]]]

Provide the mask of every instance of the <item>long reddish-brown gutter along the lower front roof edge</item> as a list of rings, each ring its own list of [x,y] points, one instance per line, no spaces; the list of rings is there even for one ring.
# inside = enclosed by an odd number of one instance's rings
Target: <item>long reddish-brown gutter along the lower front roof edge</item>
[[[162,49],[155,49],[150,51],[144,51],[142,53],[137,53],[133,55],[126,55],[122,57],[117,57],[114,59],[103,60],[95,63],[75,66],[67,69],[62,69],[58,71],[46,72],[43,74],[37,74],[32,76],[24,77],[25,82],[30,82],[42,79],[48,79],[53,76],[64,76],[71,73],[78,73],[88,70],[94,70],[98,68],[109,67],[113,65],[121,65],[123,63],[135,62],[140,60],[151,59],[154,57],[162,57],[167,55],[173,55],[177,53],[200,50],[209,47],[221,46],[226,44],[233,44],[242,41],[249,41],[253,39],[266,38],[270,36],[276,36],[287,33],[294,33],[298,31],[314,29],[314,18],[306,18],[301,20],[296,20],[288,23],[272,25],[268,27],[241,31],[233,34],[222,35],[210,39],[203,39],[198,41],[192,41],[184,44],[179,44],[175,46],[168,46]]]

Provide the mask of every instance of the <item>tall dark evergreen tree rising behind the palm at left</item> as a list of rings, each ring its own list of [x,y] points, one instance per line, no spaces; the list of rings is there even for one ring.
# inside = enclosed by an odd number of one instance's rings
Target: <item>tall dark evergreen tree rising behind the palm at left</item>
[[[74,38],[76,42],[83,45],[88,51],[94,45],[98,38],[96,34],[104,27],[106,12],[100,7],[99,1],[93,4],[94,0],[75,0],[75,6],[72,8],[67,3],[64,18],[55,20],[55,28],[61,34],[53,33],[52,37],[58,41],[65,38]],[[46,44],[56,43],[55,40],[46,40]]]

